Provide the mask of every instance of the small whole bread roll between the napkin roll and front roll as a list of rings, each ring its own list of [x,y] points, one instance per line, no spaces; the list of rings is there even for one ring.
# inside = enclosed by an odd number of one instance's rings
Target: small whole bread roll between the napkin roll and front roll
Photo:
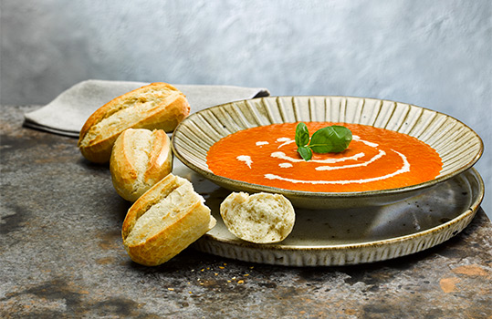
[[[114,143],[111,180],[127,201],[137,201],[173,170],[170,139],[162,129],[126,129]]]

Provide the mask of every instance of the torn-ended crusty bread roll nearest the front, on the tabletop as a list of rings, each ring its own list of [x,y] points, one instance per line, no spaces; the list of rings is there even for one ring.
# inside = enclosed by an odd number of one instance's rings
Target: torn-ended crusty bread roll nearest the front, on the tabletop
[[[192,183],[169,174],[133,203],[122,237],[134,262],[167,262],[215,226],[215,218]]]

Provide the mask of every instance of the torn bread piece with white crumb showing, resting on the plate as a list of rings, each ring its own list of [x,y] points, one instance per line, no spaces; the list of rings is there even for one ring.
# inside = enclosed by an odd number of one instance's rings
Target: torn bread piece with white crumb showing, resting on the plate
[[[292,232],[296,213],[280,194],[233,192],[220,205],[227,229],[246,242],[281,242]]]

